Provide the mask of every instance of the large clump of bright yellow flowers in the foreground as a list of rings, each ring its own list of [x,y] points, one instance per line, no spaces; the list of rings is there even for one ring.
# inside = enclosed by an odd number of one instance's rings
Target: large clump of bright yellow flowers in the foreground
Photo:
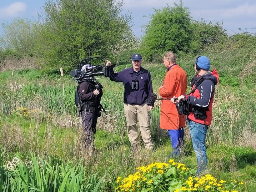
[[[244,183],[231,180],[217,181],[207,174],[201,178],[196,177],[195,170],[189,169],[185,164],[169,160],[168,163],[151,163],[148,166],[136,168],[137,172],[128,177],[118,177],[116,190],[119,192],[241,192]]]

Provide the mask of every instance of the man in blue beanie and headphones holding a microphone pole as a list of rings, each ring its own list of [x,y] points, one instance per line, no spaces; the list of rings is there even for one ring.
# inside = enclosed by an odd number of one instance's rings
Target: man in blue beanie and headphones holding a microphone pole
[[[192,90],[187,95],[171,99],[171,102],[186,102],[190,105],[190,113],[187,117],[192,144],[197,158],[197,175],[207,168],[207,155],[205,139],[207,129],[212,121],[212,102],[214,100],[215,85],[219,81],[219,75],[214,69],[210,70],[210,60],[206,56],[195,59],[194,69],[196,78],[192,83]],[[191,80],[192,81],[192,80]],[[184,100],[185,98],[185,100]]]

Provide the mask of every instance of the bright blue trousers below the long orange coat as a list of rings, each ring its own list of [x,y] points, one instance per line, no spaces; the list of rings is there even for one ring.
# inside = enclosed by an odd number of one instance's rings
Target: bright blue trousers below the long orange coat
[[[168,133],[171,137],[171,145],[173,148],[172,155],[180,155],[180,147],[184,142],[184,129],[168,130]]]

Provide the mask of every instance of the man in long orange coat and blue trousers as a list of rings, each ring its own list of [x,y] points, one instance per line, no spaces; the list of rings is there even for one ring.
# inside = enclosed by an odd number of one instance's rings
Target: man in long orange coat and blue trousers
[[[167,52],[164,55],[164,65],[167,68],[164,84],[159,89],[163,98],[175,95],[185,95],[187,89],[186,72],[176,64],[176,55]],[[172,155],[180,154],[180,147],[184,142],[185,117],[179,115],[176,105],[170,100],[162,100],[160,111],[160,128],[168,130],[171,137]]]

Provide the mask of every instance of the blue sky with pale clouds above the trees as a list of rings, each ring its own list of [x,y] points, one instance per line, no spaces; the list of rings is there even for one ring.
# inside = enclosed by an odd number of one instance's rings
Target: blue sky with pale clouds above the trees
[[[45,0],[0,0],[0,24],[4,21],[11,22],[16,17],[37,19],[37,13],[41,12]],[[137,36],[141,36],[143,31],[141,26],[149,21],[143,17],[153,13],[153,7],[173,5],[179,0],[123,0],[123,13],[127,10],[132,13],[134,26],[132,30]],[[223,21],[224,29],[228,34],[239,32],[238,28],[245,31],[255,32],[256,29],[256,1],[255,0],[183,0],[184,5],[189,7],[191,16],[195,20],[203,18],[205,21]],[[2,27],[0,26],[0,34]]]

